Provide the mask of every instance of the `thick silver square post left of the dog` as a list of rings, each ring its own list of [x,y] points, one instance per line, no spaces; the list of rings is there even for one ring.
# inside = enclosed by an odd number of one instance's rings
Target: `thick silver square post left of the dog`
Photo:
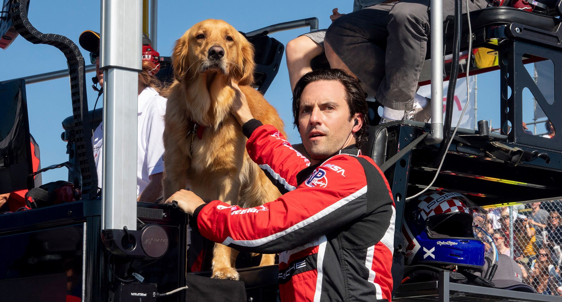
[[[142,0],[102,0],[102,228],[137,230],[137,98]]]

